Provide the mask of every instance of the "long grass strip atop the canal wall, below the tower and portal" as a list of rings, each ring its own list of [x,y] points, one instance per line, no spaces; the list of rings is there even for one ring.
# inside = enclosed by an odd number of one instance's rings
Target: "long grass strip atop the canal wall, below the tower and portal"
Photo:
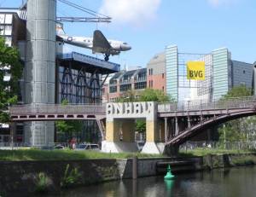
[[[161,154],[120,153],[106,154],[96,151],[74,150],[40,150],[36,148],[19,150],[0,150],[0,160],[78,160],[78,159],[126,159],[137,156],[138,158],[163,157]]]

